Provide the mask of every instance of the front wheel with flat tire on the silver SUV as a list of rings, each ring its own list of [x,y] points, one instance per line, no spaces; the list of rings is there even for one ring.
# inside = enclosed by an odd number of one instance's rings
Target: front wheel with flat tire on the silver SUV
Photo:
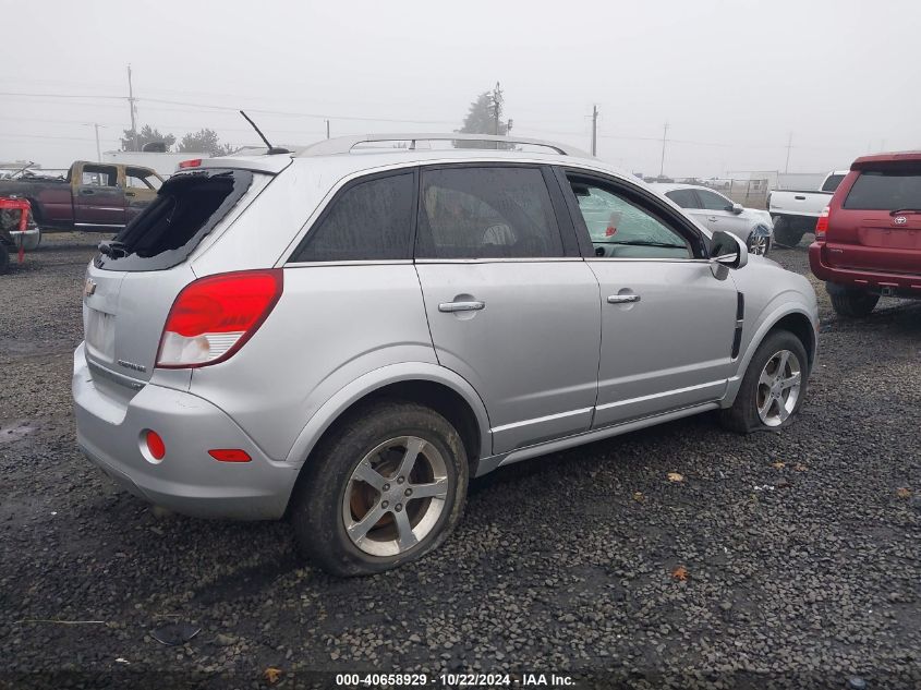
[[[802,341],[788,330],[769,334],[755,350],[723,425],[740,434],[792,423],[805,397],[809,359]]]

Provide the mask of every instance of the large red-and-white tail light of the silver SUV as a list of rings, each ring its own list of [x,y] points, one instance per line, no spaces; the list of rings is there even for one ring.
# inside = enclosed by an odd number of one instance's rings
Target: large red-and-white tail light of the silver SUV
[[[280,268],[208,276],[187,285],[167,316],[157,366],[190,368],[230,359],[281,296]]]

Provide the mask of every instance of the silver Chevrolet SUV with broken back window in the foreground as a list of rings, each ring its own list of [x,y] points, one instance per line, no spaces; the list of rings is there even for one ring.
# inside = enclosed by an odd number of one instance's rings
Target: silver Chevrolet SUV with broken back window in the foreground
[[[805,278],[567,146],[385,135],[190,166],[87,269],[78,444],[153,504],[289,517],[330,572],[437,547],[501,465],[802,402]]]

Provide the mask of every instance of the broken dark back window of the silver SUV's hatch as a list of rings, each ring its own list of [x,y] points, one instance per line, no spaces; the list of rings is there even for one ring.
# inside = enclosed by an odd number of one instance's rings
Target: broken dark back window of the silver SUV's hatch
[[[181,264],[250,189],[249,170],[197,170],[167,180],[154,199],[96,257],[107,270],[163,270]],[[101,246],[101,245],[100,245]]]

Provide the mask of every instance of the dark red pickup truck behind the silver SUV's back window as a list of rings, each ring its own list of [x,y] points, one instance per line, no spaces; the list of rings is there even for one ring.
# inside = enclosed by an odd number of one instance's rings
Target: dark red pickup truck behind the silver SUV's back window
[[[0,180],[0,196],[28,199],[43,230],[117,232],[154,201],[162,182],[149,168],[77,160],[63,177]]]

